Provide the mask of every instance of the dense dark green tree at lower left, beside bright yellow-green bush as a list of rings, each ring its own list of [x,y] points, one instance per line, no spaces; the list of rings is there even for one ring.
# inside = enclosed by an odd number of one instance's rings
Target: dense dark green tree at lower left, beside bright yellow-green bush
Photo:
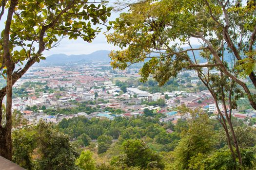
[[[58,132],[52,125],[42,121],[36,127],[36,131],[40,155],[36,164],[39,170],[75,169],[75,159],[79,154],[71,145],[69,136]]]

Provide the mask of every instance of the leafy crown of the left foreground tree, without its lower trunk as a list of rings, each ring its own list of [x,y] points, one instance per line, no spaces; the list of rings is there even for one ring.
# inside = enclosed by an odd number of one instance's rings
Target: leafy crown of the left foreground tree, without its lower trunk
[[[2,0],[4,1],[4,0]],[[10,51],[15,64],[31,66],[45,57],[42,51],[59,45],[62,38],[91,42],[110,16],[111,8],[87,0],[19,0],[14,11],[10,28]],[[7,0],[5,8],[10,1]],[[4,18],[1,18],[4,19]],[[3,60],[3,34],[0,39],[0,68],[5,74]],[[26,64],[27,63],[27,64]],[[27,67],[16,71],[20,76]]]

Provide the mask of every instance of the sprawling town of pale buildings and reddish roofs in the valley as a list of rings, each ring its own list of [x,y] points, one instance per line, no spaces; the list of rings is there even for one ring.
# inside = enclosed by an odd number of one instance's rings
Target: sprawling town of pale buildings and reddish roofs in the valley
[[[195,71],[184,71],[159,87],[151,79],[141,83],[136,67],[113,70],[100,62],[72,67],[30,69],[14,85],[13,110],[20,111],[29,123],[40,119],[58,123],[77,116],[113,120],[145,115],[176,124],[178,119],[190,118],[189,113],[177,110],[177,106],[185,105],[201,108],[210,119],[217,119],[215,101]],[[249,124],[256,111],[246,99],[239,100],[241,105],[233,109],[232,116]],[[224,109],[222,104],[219,107]]]

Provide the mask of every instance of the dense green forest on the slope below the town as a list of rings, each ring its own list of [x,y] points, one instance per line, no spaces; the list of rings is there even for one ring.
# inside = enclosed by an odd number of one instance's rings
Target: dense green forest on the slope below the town
[[[187,111],[187,108],[181,108]],[[13,133],[13,161],[32,170],[234,170],[221,125],[202,111],[159,123],[152,117],[62,119]],[[185,113],[184,113],[185,114]],[[233,119],[244,170],[255,168],[256,129]]]

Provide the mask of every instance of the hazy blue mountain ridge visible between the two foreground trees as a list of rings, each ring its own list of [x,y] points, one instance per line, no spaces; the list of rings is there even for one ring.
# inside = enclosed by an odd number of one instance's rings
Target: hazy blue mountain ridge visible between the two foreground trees
[[[46,57],[45,60],[41,60],[38,66],[63,66],[68,64],[83,64],[91,62],[110,62],[108,54],[110,51],[99,50],[91,54],[81,54],[81,55],[66,55],[66,54],[53,54]]]

